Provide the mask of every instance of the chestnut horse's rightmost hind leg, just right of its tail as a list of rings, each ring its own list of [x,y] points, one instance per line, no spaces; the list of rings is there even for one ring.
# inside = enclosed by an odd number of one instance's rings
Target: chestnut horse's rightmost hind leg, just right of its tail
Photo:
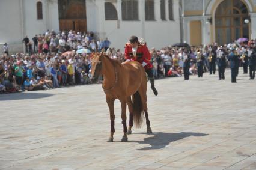
[[[148,118],[148,106],[147,106],[147,90],[146,88],[139,88],[139,95],[141,96],[141,102],[142,107],[145,112],[145,118],[146,118],[146,124],[147,124],[147,133],[152,133],[151,127],[150,127],[150,120]]]

